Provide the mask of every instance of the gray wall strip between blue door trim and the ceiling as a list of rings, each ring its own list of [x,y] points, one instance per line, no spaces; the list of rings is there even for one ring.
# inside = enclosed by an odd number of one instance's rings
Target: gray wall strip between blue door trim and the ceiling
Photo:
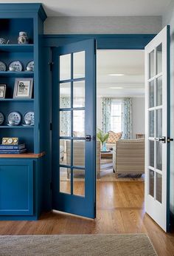
[[[48,17],[45,34],[153,34],[161,30],[161,16]]]

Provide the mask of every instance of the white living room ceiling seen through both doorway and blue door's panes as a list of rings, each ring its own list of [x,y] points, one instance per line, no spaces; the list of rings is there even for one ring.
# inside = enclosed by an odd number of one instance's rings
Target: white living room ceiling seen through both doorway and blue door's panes
[[[62,80],[70,78],[70,58],[63,56],[60,62]],[[97,97],[128,97],[145,95],[144,50],[97,50]],[[84,77],[84,55],[74,57],[75,78]],[[111,74],[122,74],[116,76]],[[70,84],[63,84],[61,95],[69,97]],[[84,84],[74,84],[74,96],[82,97]]]

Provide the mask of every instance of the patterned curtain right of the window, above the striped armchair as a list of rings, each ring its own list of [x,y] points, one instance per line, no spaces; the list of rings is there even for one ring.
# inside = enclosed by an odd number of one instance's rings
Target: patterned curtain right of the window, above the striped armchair
[[[123,98],[122,100],[122,138],[132,138],[132,100]]]

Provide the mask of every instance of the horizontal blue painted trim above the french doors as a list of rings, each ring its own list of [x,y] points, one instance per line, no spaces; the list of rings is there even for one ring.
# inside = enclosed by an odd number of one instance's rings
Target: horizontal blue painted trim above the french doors
[[[155,37],[154,34],[84,34],[84,35],[44,35],[44,47],[58,47],[93,38],[98,50],[144,50]]]

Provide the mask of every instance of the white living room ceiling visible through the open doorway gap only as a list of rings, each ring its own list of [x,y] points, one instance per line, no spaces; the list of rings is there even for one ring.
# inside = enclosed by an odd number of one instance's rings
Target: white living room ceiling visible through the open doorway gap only
[[[144,50],[97,50],[97,96],[142,95],[145,95]]]

